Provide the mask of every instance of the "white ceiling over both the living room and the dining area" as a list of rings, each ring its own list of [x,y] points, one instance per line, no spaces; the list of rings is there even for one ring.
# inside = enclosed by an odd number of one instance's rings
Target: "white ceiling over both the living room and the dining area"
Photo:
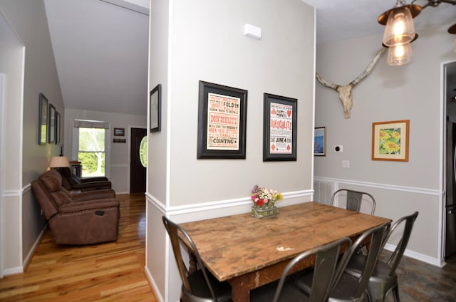
[[[302,1],[316,7],[317,43],[380,34],[383,26],[377,18],[395,4],[395,0]],[[66,108],[144,115],[149,17],[100,0],[44,2]],[[455,16],[456,6],[451,4],[427,7],[415,19],[415,27],[419,32],[425,26],[452,24]]]

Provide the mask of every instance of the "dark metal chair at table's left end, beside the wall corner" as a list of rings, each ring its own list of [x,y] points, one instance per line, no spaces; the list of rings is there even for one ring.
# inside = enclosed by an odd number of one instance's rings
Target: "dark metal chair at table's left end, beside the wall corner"
[[[178,224],[171,222],[170,219],[162,217],[165,229],[170,236],[172,251],[179,269],[180,278],[182,279],[182,288],[180,301],[183,302],[224,302],[231,301],[232,288],[227,282],[219,282],[207,269],[204,268],[199,257],[197,247],[187,234]],[[192,246],[192,253],[197,259],[197,265],[201,266],[197,271],[190,273],[180,250],[181,239],[178,232],[182,232],[185,239]]]

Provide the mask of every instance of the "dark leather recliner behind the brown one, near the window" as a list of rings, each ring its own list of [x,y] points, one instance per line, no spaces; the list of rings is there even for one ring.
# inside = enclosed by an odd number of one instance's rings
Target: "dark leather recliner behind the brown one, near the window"
[[[81,178],[71,172],[68,167],[60,167],[58,171],[62,176],[62,186],[67,190],[79,190],[81,192],[93,191],[95,189],[110,189],[111,182],[107,177],[86,177]]]

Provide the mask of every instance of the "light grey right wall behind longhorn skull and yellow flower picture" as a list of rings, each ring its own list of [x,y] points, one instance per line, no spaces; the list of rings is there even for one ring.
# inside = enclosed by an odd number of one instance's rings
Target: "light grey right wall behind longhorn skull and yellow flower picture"
[[[343,117],[337,93],[316,85],[315,125],[327,127],[328,146],[326,157],[315,158],[316,179],[371,192],[378,216],[395,220],[418,210],[407,253],[432,264],[442,260],[442,62],[456,58],[448,26],[421,29],[408,65],[388,66],[385,53],[353,89],[350,119]],[[380,49],[381,38],[318,45],[316,71],[332,83],[350,83]],[[372,123],[390,120],[410,120],[408,162],[371,160]],[[343,152],[334,152],[335,145]],[[342,160],[350,167],[343,168]]]

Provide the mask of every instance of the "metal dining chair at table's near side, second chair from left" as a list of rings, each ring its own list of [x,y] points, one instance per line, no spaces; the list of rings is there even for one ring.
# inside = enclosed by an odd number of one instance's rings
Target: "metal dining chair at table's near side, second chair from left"
[[[349,238],[342,238],[337,241],[333,241],[330,244],[319,246],[318,248],[304,251],[299,254],[286,265],[279,283],[273,282],[254,289],[250,292],[250,301],[326,301],[333,288],[334,276],[336,276],[338,271],[345,268],[341,267],[342,264],[340,262],[338,263],[338,256],[341,254],[341,246],[349,249],[351,246],[351,240]],[[299,264],[300,261],[311,255],[315,255],[316,259],[314,269],[312,270],[314,274],[311,291],[310,294],[306,294],[294,286],[294,276],[289,276],[289,273],[294,266]],[[272,300],[271,297],[273,297]]]

